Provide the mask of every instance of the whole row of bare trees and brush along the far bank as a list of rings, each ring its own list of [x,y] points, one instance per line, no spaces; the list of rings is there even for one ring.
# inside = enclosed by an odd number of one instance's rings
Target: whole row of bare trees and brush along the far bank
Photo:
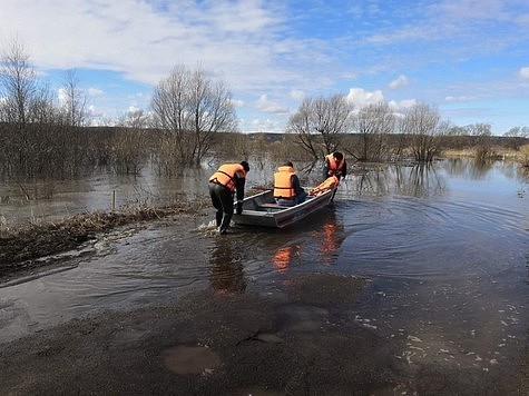
[[[479,159],[493,156],[487,123],[458,127],[428,103],[395,112],[380,102],[355,108],[346,96],[306,98],[290,118],[280,145],[237,130],[232,92],[203,68],[176,66],[153,92],[148,111],[127,113],[111,126],[89,126],[88,96],[68,70],[60,97],[39,79],[17,40],[0,58],[0,176],[74,177],[91,167],[137,174],[147,161],[160,174],[199,166],[214,155],[249,156],[274,151],[317,161],[342,150],[357,161],[412,158],[432,161],[447,147],[472,147]],[[506,133],[520,149],[528,127]],[[276,139],[275,139],[276,140]],[[294,156],[294,157],[293,157]]]

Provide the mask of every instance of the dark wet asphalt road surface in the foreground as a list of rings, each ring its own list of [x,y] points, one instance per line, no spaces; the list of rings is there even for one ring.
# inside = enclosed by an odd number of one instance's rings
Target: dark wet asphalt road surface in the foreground
[[[313,274],[276,294],[202,290],[165,306],[75,319],[0,345],[1,394],[527,394],[527,354],[501,385],[483,372],[398,358],[398,341],[346,309],[365,285]]]

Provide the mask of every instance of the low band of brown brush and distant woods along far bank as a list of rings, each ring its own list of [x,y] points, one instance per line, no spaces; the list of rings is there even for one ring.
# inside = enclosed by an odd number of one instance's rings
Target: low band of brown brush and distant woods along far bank
[[[188,132],[187,140],[194,135]],[[303,137],[306,139],[306,137]],[[434,136],[418,143],[417,136],[401,133],[336,133],[333,150],[342,150],[356,161],[417,160],[421,149],[434,150],[430,159],[450,152],[494,159],[508,156],[529,166],[529,139],[523,137]],[[319,135],[311,137],[316,156],[306,148],[298,135],[218,132],[207,142],[203,160],[241,160],[252,156],[277,160],[315,161],[323,158],[324,142]],[[159,129],[128,127],[68,127],[57,125],[0,123],[0,175],[3,180],[33,178],[75,178],[105,168],[116,174],[138,174],[150,165],[159,175],[169,176],[186,164],[175,149],[172,133]],[[193,145],[187,146],[193,149]]]

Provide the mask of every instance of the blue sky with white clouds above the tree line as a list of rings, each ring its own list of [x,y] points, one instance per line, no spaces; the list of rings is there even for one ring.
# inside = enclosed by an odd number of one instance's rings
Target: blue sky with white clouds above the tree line
[[[527,0],[0,0],[0,49],[13,38],[51,87],[76,69],[105,120],[148,110],[186,65],[232,90],[242,131],[283,131],[303,98],[336,93],[529,126]]]

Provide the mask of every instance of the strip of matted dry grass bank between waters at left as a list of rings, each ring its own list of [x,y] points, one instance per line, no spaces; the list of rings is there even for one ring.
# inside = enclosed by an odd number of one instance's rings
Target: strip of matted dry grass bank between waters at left
[[[45,265],[39,258],[75,249],[98,235],[144,221],[183,214],[197,215],[209,201],[182,201],[165,207],[139,205],[119,211],[80,214],[60,222],[31,224],[0,235],[0,280]]]

